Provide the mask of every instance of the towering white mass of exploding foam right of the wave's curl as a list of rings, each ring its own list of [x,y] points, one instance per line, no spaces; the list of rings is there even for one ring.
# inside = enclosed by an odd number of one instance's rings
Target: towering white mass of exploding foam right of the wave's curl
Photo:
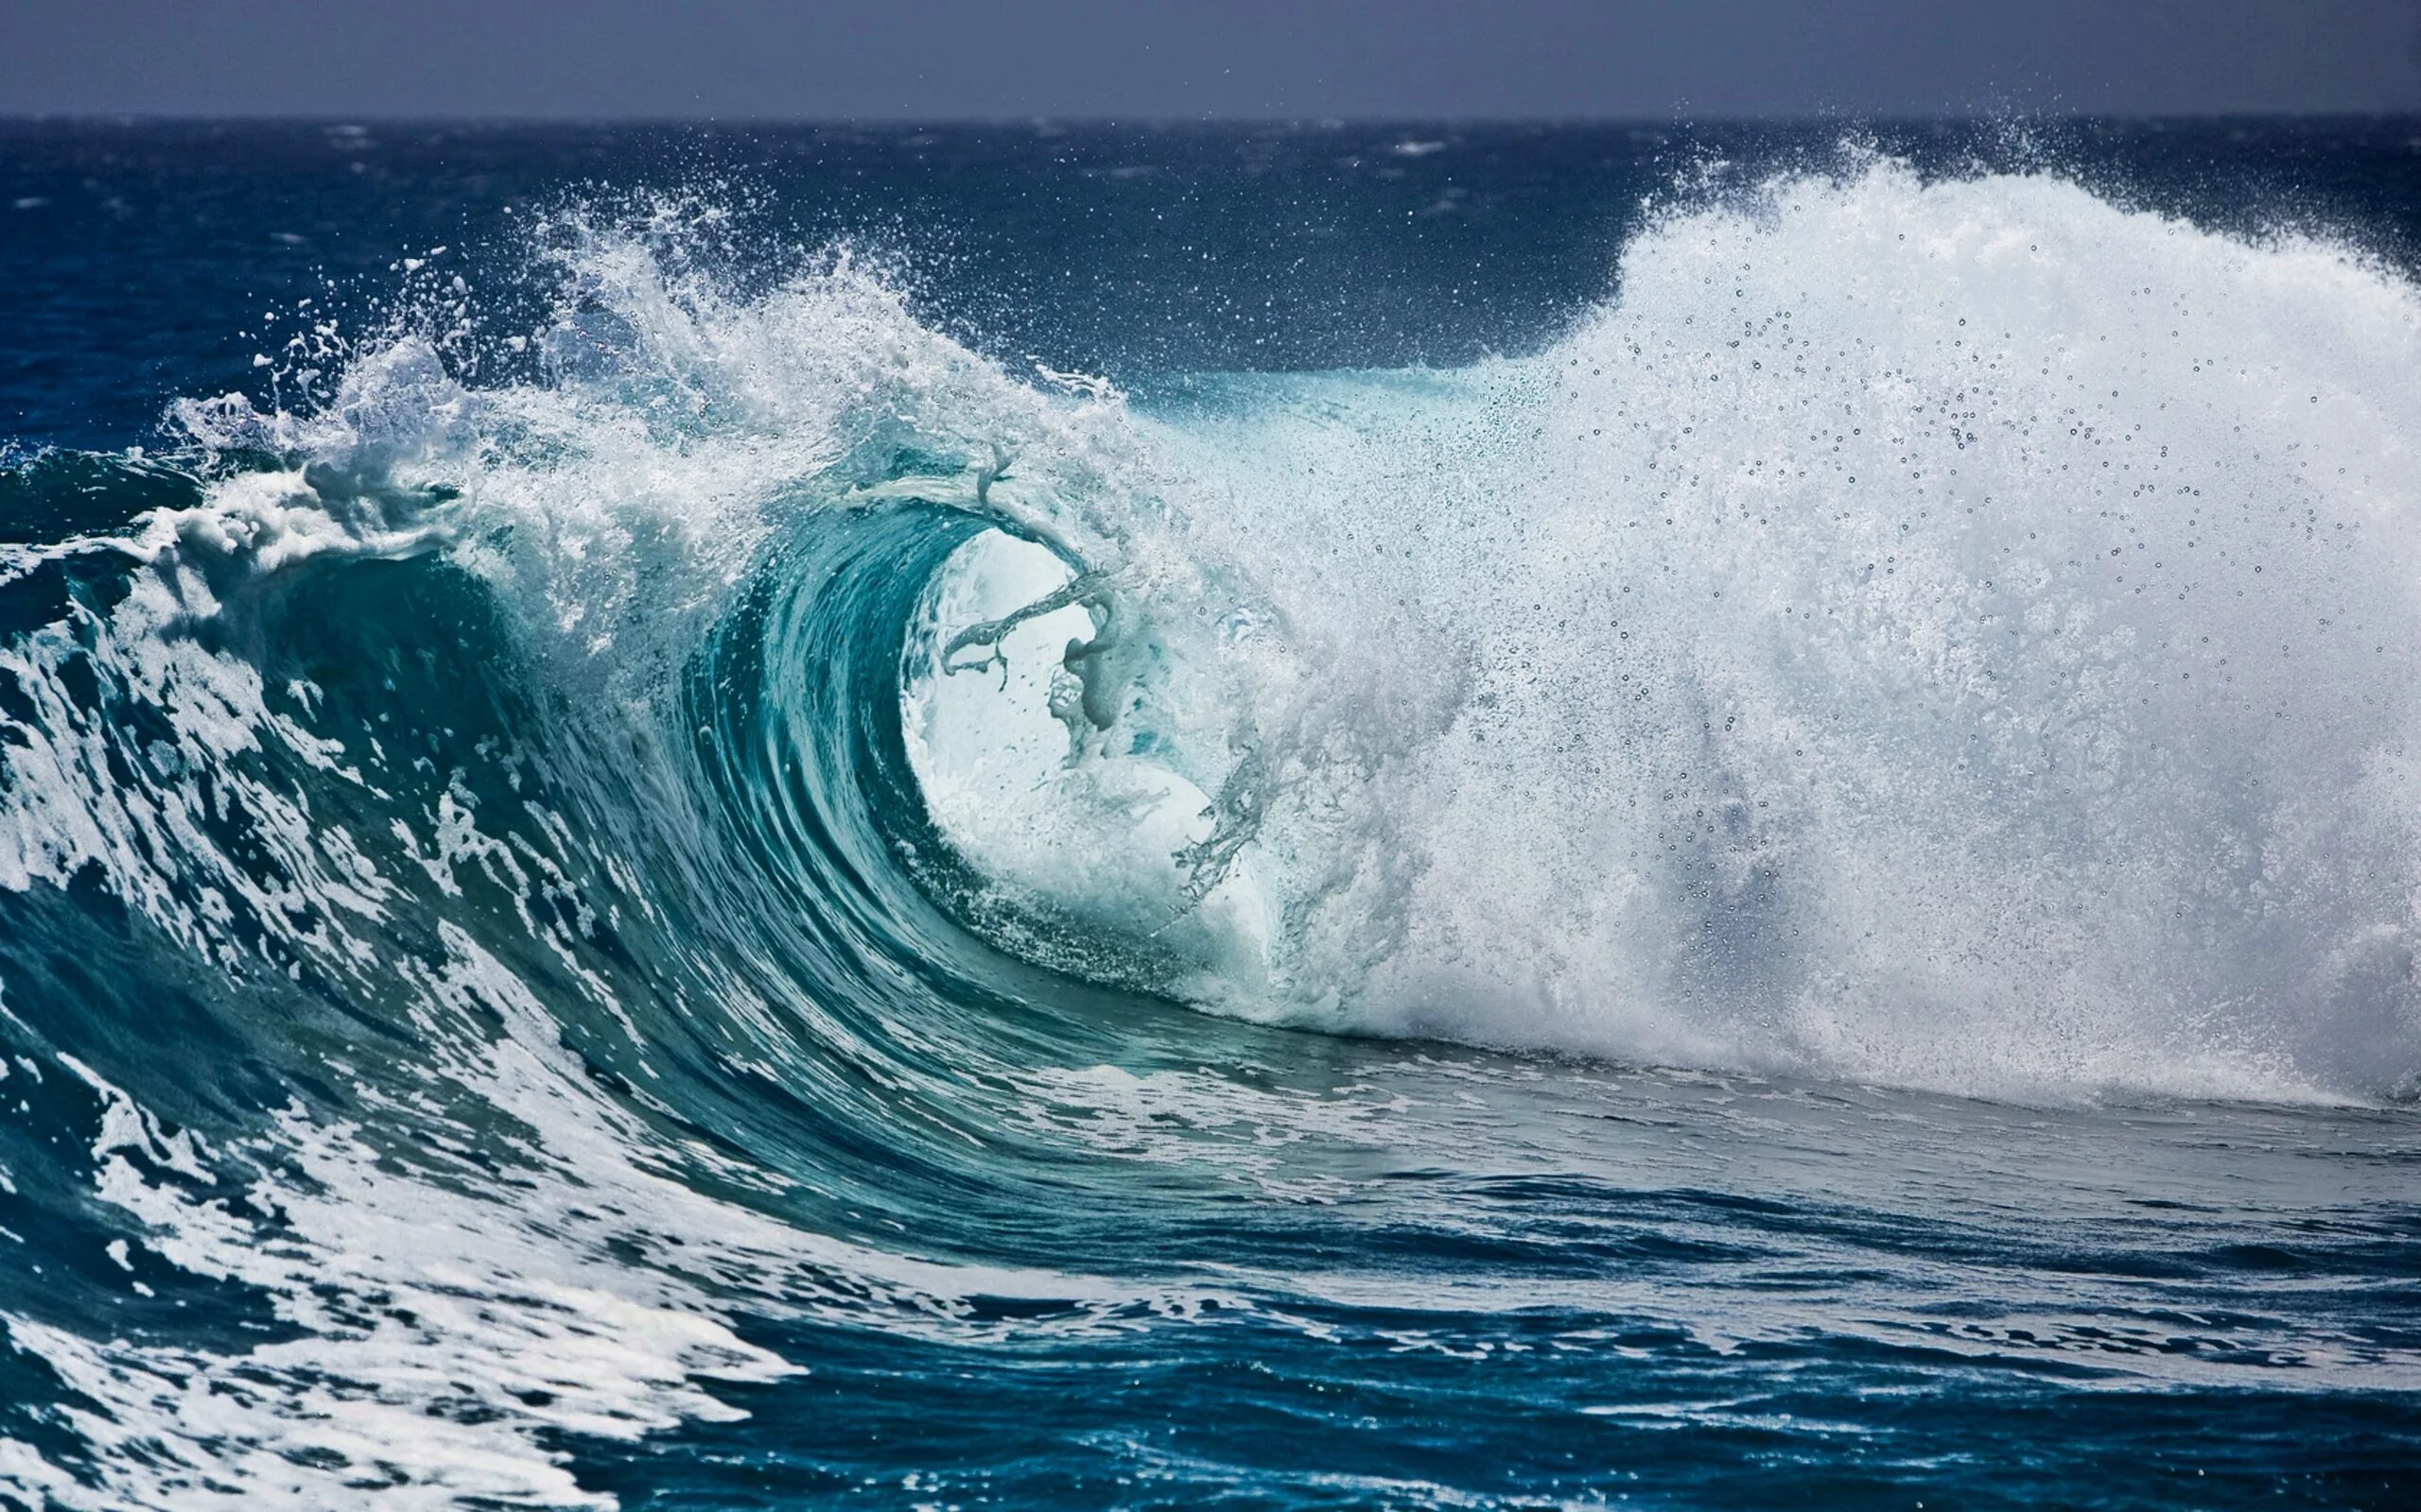
[[[1879,162],[1668,215],[1537,358],[1135,426],[1210,590],[1133,590],[1196,663],[1148,721],[1276,793],[1266,982],[1194,997],[2029,1096],[2421,1074],[2399,276]]]

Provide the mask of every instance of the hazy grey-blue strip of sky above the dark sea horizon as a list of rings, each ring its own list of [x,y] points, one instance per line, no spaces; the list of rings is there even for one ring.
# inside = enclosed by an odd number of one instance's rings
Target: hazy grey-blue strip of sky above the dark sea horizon
[[[0,0],[0,116],[2421,111],[2421,0]]]

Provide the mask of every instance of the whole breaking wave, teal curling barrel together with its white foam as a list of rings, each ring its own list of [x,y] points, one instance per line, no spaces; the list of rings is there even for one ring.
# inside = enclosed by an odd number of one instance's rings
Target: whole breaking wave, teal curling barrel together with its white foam
[[[0,1188],[75,1258],[5,1297],[0,1497],[613,1505],[579,1444],[743,1422],[816,1331],[1428,1338],[1344,1265],[1273,1302],[1310,1248],[1123,1268],[1133,1198],[1053,1176],[1310,1214],[1494,1137],[1399,1072],[1227,1081],[1356,1050],[1220,1021],[1615,1079],[1576,1118],[2421,1089],[2387,261],[1862,157],[1675,194],[1528,356],[1121,392],[862,256],[741,285],[719,220],[533,225],[511,329],[424,252],[169,452],[5,462]]]

